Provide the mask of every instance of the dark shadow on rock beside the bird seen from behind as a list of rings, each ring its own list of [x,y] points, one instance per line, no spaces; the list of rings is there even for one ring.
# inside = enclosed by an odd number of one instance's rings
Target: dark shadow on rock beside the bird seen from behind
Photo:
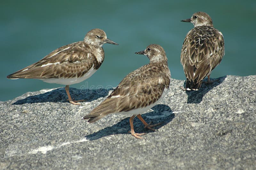
[[[191,104],[191,103],[201,103],[201,101],[203,100],[203,97],[206,93],[208,93],[208,91],[210,91],[211,89],[213,89],[214,87],[217,87],[218,85],[220,85],[227,76],[223,76],[223,77],[219,77],[217,79],[211,79],[211,80],[218,80],[218,81],[214,81],[210,84],[207,83],[202,83],[202,86],[199,90],[194,91],[194,90],[186,90],[186,93],[188,95],[188,101],[187,103]],[[205,80],[204,80],[205,81]],[[186,86],[186,81],[184,82],[184,86]]]

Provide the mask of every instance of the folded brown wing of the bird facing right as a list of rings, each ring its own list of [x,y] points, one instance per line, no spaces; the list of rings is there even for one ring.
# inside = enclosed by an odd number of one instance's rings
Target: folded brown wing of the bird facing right
[[[40,61],[25,67],[7,78],[47,79],[81,77],[99,64],[83,42],[62,46]]]

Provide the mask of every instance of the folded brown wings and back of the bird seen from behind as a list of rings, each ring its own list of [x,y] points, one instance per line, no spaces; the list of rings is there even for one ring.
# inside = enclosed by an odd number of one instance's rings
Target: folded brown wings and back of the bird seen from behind
[[[203,26],[188,32],[181,49],[180,61],[186,78],[196,84],[220,64],[223,56],[223,35],[213,27]]]

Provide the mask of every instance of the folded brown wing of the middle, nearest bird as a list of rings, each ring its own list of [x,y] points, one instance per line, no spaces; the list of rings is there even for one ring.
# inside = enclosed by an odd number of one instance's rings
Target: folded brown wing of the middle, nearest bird
[[[148,64],[128,74],[99,106],[84,116],[84,119],[100,119],[111,113],[127,112],[153,104],[162,96],[164,88],[169,88],[170,70],[168,68],[169,73],[166,74],[162,69]],[[96,120],[98,119],[92,122]]]

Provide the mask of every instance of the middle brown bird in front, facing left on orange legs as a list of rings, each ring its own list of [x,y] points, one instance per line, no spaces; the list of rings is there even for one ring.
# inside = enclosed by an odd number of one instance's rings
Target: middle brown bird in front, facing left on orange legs
[[[150,44],[145,50],[135,52],[144,54],[149,58],[149,64],[129,73],[118,84],[116,89],[88,115],[84,116],[87,123],[93,123],[108,114],[132,115],[129,119],[130,133],[132,136],[142,139],[140,135],[146,133],[135,133],[133,120],[137,116],[139,120],[152,131],[152,127],[161,123],[150,125],[141,114],[155,106],[167,93],[171,72],[168,67],[167,57],[163,47],[158,44]]]

